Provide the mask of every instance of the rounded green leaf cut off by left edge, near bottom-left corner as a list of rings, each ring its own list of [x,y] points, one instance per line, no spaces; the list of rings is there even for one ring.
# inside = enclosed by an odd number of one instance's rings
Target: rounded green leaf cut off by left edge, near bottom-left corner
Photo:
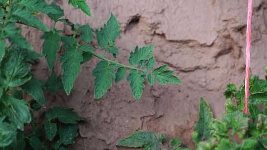
[[[16,127],[0,121],[0,148],[10,145],[16,139]]]

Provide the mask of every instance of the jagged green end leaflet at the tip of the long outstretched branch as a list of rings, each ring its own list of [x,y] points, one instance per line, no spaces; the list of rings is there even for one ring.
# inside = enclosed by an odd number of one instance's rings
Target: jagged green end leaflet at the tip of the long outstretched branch
[[[155,69],[152,75],[155,75],[156,80],[162,85],[166,85],[167,83],[181,84],[181,80],[174,75],[174,71],[168,71],[166,69],[167,65],[161,66]]]

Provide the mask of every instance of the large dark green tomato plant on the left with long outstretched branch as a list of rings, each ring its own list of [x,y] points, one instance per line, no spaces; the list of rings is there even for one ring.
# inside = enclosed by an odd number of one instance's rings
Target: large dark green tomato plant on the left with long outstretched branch
[[[91,16],[86,0],[68,2]],[[51,29],[39,20],[38,15],[41,13],[54,21]],[[74,143],[78,135],[77,121],[85,121],[85,118],[71,109],[55,107],[45,112],[46,120],[35,123],[34,112],[45,106],[44,91],[53,94],[64,89],[69,95],[81,71],[81,65],[92,57],[101,60],[92,71],[92,76],[95,77],[95,99],[107,92],[112,86],[112,79],[116,83],[124,79],[127,70],[127,81],[130,82],[135,99],[141,97],[145,80],[150,85],[155,80],[163,85],[181,83],[174,71],[167,70],[167,65],[154,69],[153,45],[140,48],[136,46],[134,52],[130,53],[130,65],[116,61],[119,50],[115,40],[120,36],[120,26],[113,14],[97,30],[90,28],[89,24],[74,24],[63,16],[64,11],[55,2],[48,4],[45,0],[0,0],[0,150],[67,150],[65,146]],[[70,26],[73,35],[61,35],[62,31],[55,28],[57,22]],[[40,37],[44,39],[42,54],[33,50],[29,41],[21,35],[22,29],[16,24],[44,32]],[[90,45],[94,37],[99,49],[103,50],[101,55]],[[63,52],[60,56],[62,77],[54,72],[54,63],[60,50]],[[108,59],[108,55],[113,56],[112,60]],[[31,64],[41,57],[45,57],[50,71],[46,81],[37,80],[31,72]],[[24,95],[30,95],[32,99],[25,100]],[[25,125],[31,130],[24,131]]]

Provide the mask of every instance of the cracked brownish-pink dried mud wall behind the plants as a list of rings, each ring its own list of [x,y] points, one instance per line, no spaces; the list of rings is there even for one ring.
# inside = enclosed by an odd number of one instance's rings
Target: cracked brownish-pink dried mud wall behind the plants
[[[182,80],[181,85],[155,84],[144,89],[140,100],[134,100],[126,80],[115,84],[98,101],[93,99],[91,71],[99,61],[82,66],[82,72],[70,96],[64,92],[47,94],[46,107],[61,105],[74,108],[88,121],[80,124],[80,135],[71,150],[131,150],[117,148],[116,143],[135,130],[160,132],[167,142],[178,136],[185,146],[194,148],[191,132],[197,120],[198,102],[204,97],[215,117],[224,112],[223,92],[228,82],[241,84],[245,75],[246,0],[87,0],[93,17],[56,0],[65,17],[96,29],[112,12],[121,25],[118,61],[128,64],[135,45],[154,43],[157,65],[167,63]],[[40,16],[52,26],[46,16]],[[267,65],[267,2],[254,0],[251,71],[264,76]],[[63,24],[57,29],[71,35]],[[41,32],[24,28],[36,51],[41,52]],[[96,41],[94,41],[96,42]],[[98,52],[101,50],[98,48]],[[36,77],[50,74],[45,59],[34,66]],[[62,75],[56,61],[55,72]],[[167,143],[166,142],[166,143]]]

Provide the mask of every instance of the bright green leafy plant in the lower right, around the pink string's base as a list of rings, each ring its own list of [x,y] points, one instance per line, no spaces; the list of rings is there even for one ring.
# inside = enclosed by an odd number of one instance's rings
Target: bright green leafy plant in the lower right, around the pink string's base
[[[197,150],[267,150],[267,77],[265,80],[260,80],[258,76],[250,77],[249,115],[243,112],[244,95],[244,84],[239,89],[234,84],[227,85],[224,92],[225,114],[222,119],[214,119],[208,103],[201,98],[199,120],[195,123],[195,131],[192,133]],[[159,147],[160,144],[162,146],[163,140],[157,140],[158,146],[154,146],[149,140],[152,138],[147,138],[144,133],[135,132],[117,145],[143,147],[145,150],[166,149]],[[178,138],[171,140],[170,145],[173,150],[184,150]]]

